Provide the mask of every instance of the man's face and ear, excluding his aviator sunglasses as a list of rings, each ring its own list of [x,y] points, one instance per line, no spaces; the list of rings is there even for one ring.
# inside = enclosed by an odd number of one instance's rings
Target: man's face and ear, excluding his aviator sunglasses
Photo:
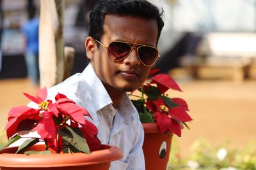
[[[157,22],[152,19],[106,15],[103,30],[101,39],[97,40],[106,46],[111,41],[125,41],[150,46],[156,46],[157,43]],[[132,91],[146,80],[151,66],[144,66],[140,62],[135,48],[124,60],[116,62],[109,59],[106,48],[102,45],[97,47],[96,42],[93,39],[91,41],[93,41],[94,47],[90,53],[86,46],[88,58],[108,92]]]

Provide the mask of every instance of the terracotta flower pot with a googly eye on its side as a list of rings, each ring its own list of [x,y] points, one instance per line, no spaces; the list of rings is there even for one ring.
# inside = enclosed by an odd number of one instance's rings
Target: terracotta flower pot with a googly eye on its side
[[[166,170],[173,133],[161,134],[156,123],[143,123],[145,139],[143,152],[147,170]]]

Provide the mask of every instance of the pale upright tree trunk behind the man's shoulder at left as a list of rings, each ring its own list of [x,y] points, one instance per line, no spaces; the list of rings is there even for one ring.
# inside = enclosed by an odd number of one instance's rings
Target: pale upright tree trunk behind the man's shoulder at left
[[[40,87],[52,87],[63,81],[64,74],[64,1],[41,0],[40,6]]]

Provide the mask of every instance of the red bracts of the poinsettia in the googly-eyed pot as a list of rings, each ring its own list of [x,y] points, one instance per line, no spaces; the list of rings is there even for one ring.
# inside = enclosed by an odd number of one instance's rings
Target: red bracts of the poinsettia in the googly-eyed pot
[[[168,76],[168,74],[157,74],[152,77],[150,83],[157,84],[157,89],[161,96],[163,96],[164,92],[168,89],[182,92],[179,85],[172,79],[172,77]],[[162,133],[170,130],[174,134],[177,134],[177,136],[181,136],[182,126],[180,123],[192,120],[186,112],[188,111],[188,104],[180,98],[168,98],[169,100],[166,101],[163,100],[161,96],[159,96],[157,101],[148,100],[146,106],[154,113],[154,119],[156,120],[157,125],[159,125]],[[172,103],[174,103],[174,105]]]

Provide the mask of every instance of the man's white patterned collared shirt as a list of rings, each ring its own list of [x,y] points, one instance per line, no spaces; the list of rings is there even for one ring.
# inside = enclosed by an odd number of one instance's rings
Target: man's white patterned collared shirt
[[[121,148],[124,157],[111,162],[111,170],[145,169],[143,127],[129,96],[125,95],[113,108],[111,98],[91,64],[83,73],[74,74],[48,89],[48,98],[54,99],[58,92],[88,110],[93,118],[90,121],[99,129],[98,138],[102,144]]]

